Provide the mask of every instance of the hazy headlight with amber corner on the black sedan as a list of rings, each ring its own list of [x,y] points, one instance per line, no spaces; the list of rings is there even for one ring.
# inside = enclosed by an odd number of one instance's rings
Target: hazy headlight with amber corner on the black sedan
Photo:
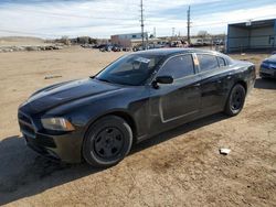
[[[75,128],[64,118],[45,118],[41,119],[42,126],[49,130],[55,131],[73,131]]]

